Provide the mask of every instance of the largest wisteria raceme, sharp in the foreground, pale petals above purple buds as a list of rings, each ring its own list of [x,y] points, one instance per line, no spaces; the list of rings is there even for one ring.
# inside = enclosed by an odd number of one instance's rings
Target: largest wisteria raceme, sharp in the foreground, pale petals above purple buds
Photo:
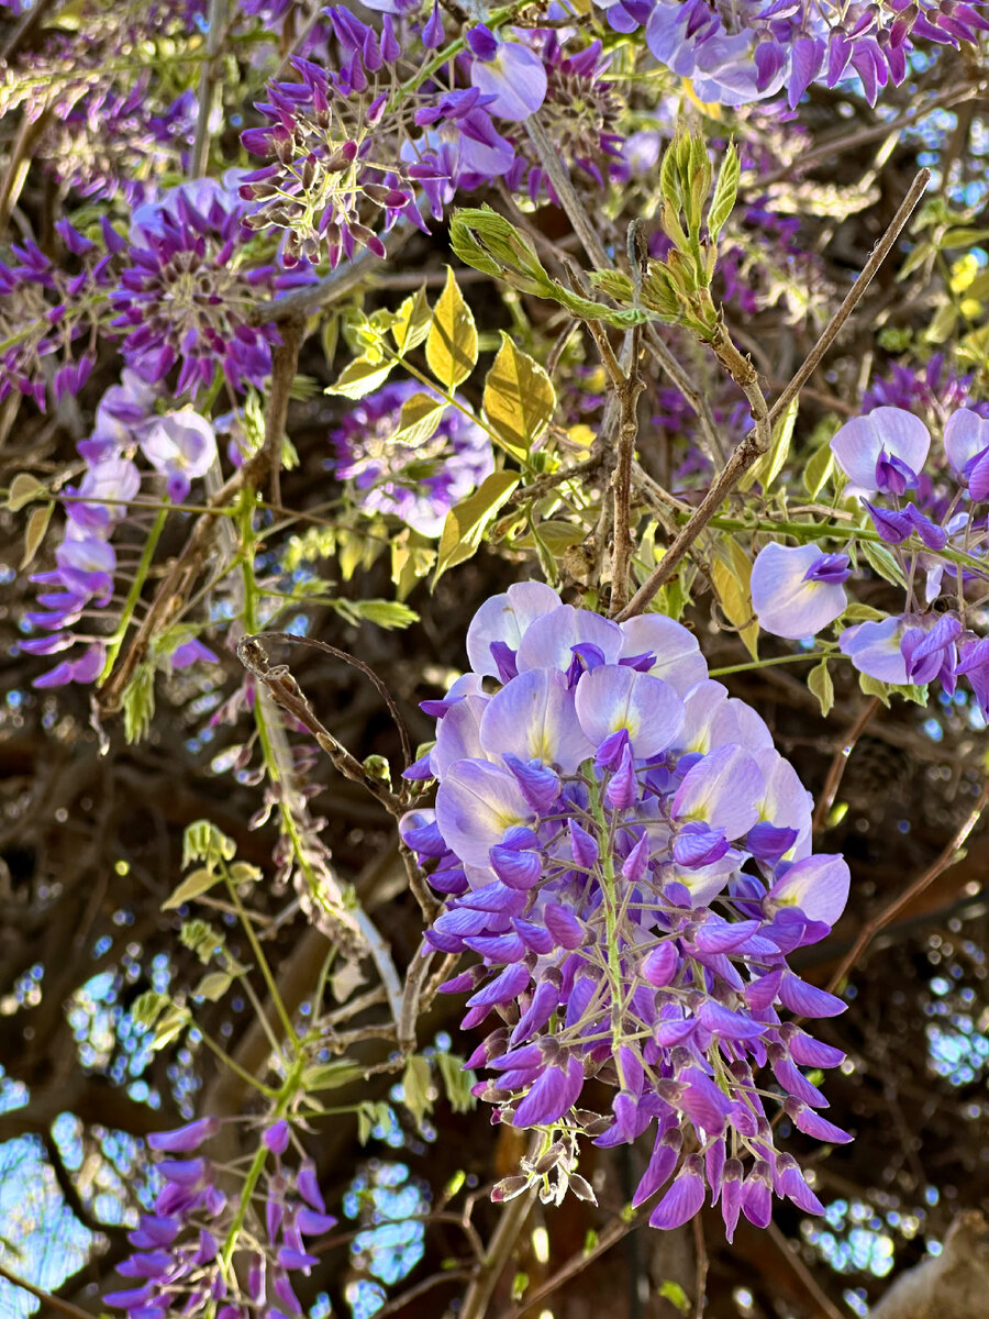
[[[786,959],[828,933],[849,876],[812,855],[810,795],[765,723],[708,679],[678,623],[620,625],[541,583],[488,600],[467,652],[409,772],[438,780],[435,809],[402,835],[447,896],[430,943],[480,958],[446,985],[471,991],[463,1026],[501,1017],[469,1059],[494,1072],[477,1092],[547,1138],[651,1130],[636,1203],[687,1154],[657,1227],[691,1217],[705,1186],[729,1236],[740,1212],[767,1220],[773,1191],[819,1211],[764,1100],[849,1138],[800,1071],[843,1055],[782,1017],[844,1008]],[[613,1087],[611,1113],[579,1107],[589,1076]]]

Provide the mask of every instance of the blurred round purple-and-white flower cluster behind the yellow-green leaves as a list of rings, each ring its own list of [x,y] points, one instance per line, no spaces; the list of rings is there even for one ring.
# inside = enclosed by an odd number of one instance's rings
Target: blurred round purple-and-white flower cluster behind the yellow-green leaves
[[[494,470],[488,435],[456,408],[429,439],[394,441],[414,381],[388,384],[355,404],[331,433],[334,472],[368,513],[390,513],[422,536],[439,536],[451,506]],[[436,406],[442,406],[436,400]]]

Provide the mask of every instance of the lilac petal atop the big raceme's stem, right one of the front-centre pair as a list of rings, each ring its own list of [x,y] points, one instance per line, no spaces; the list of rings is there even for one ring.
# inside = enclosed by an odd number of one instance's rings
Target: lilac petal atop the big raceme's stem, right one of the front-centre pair
[[[625,729],[636,760],[666,751],[683,725],[683,703],[674,689],[626,665],[601,665],[585,673],[576,687],[575,708],[595,747]]]

